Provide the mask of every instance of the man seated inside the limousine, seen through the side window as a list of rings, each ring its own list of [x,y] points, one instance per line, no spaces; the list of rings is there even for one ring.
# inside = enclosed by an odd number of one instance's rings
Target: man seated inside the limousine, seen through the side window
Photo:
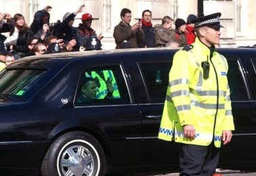
[[[98,91],[98,79],[85,78],[83,85],[81,86],[80,95],[77,99],[78,104],[88,104],[96,102],[111,102],[113,100],[112,92],[109,91],[104,99],[98,99],[96,93]]]

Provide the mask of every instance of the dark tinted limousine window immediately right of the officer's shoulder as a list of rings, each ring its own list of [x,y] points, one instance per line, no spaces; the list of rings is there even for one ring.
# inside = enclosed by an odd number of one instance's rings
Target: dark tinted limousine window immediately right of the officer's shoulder
[[[230,85],[231,100],[247,100],[246,88],[238,61],[228,62],[227,79]]]

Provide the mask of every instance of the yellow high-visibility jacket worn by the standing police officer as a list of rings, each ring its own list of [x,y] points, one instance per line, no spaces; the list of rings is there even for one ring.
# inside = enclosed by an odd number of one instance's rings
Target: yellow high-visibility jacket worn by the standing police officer
[[[202,62],[207,58],[210,70],[204,79]],[[227,70],[224,56],[198,38],[190,49],[175,53],[158,138],[199,146],[214,140],[219,148],[222,131],[234,130]],[[184,137],[183,125],[194,125],[195,139]]]

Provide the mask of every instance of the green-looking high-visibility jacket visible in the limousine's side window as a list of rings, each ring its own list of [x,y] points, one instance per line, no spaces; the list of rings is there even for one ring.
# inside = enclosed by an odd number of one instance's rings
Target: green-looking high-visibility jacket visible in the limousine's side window
[[[113,98],[120,98],[120,93],[117,87],[117,83],[115,81],[115,76],[113,75],[113,72],[111,70],[103,70],[103,76],[101,77],[100,75],[97,74],[97,72],[92,71],[91,72],[91,76],[93,79],[97,78],[99,83],[100,83],[100,87],[98,87],[98,92],[96,93],[96,98],[97,99],[104,99],[105,96],[107,95],[107,93],[109,93],[109,91],[107,90],[107,79],[110,78],[111,84],[113,86]]]

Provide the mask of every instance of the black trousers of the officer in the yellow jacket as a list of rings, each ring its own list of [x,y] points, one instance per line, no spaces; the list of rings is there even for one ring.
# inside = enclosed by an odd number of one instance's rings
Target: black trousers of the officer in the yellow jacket
[[[196,146],[180,144],[180,176],[212,176],[219,162],[219,148],[214,144]]]

